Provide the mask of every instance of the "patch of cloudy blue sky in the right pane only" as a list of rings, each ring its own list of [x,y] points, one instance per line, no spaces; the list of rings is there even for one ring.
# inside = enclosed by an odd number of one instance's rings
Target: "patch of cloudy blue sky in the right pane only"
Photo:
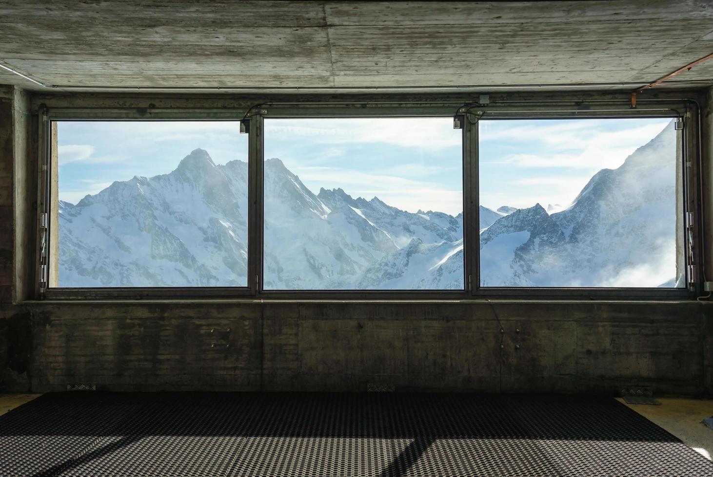
[[[616,169],[670,118],[481,120],[481,204],[567,207],[601,169]]]

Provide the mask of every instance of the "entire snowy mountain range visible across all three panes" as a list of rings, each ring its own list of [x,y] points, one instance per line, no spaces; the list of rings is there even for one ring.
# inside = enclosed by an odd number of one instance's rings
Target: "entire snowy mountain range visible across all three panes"
[[[672,127],[550,213],[480,207],[484,286],[620,286],[675,273]],[[63,287],[247,285],[247,164],[194,150],[169,174],[61,202]],[[266,289],[462,289],[463,215],[313,194],[265,161]],[[659,283],[631,283],[648,286]]]

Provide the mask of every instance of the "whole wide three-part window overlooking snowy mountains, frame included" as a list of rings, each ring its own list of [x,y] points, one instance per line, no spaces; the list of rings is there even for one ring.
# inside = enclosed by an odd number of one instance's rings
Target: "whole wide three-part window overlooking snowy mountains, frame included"
[[[696,135],[650,104],[42,110],[38,296],[687,297]]]

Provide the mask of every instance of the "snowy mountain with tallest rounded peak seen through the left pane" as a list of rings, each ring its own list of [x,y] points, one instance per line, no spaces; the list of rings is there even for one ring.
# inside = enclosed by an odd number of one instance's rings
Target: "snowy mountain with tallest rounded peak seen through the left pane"
[[[245,286],[247,164],[195,150],[170,174],[59,209],[61,286]]]

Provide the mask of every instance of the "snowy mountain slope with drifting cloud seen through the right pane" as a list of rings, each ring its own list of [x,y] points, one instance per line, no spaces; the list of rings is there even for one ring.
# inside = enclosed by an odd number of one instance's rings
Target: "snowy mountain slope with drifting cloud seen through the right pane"
[[[597,172],[567,209],[536,204],[483,231],[481,285],[682,284],[675,144],[669,124],[619,168]]]

